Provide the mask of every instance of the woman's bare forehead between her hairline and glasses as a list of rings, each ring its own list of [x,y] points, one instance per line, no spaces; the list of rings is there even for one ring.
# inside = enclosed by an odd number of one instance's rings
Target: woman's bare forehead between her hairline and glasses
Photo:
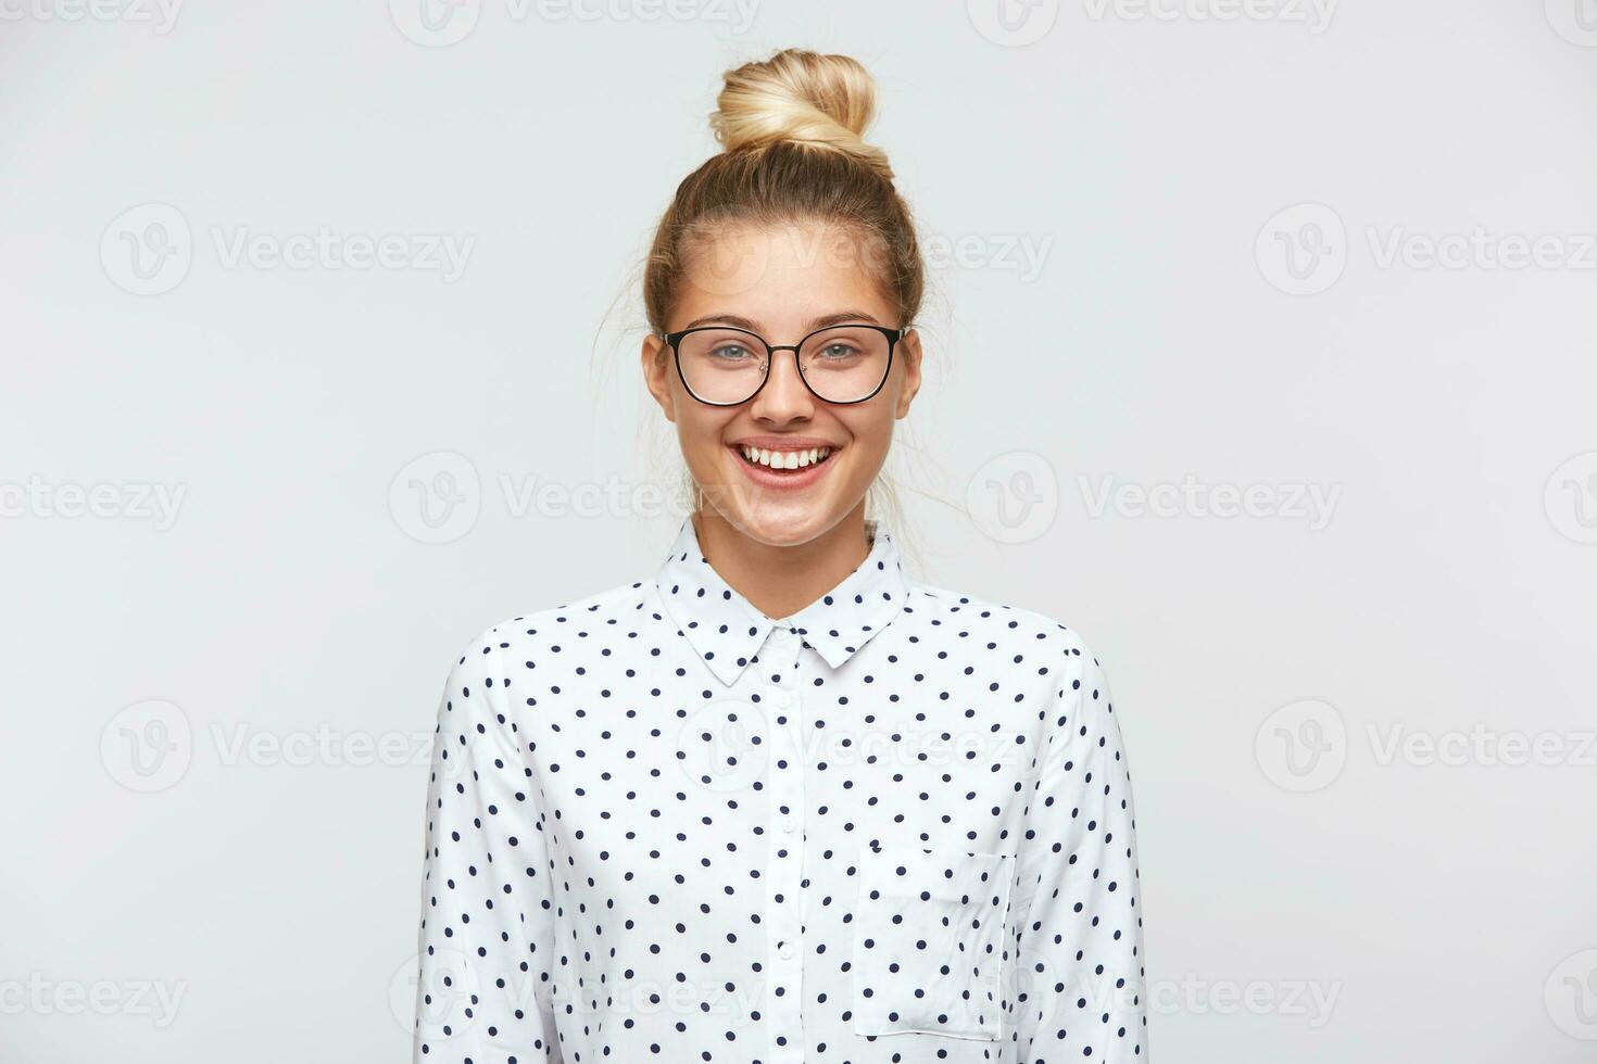
[[[842,308],[891,322],[878,246],[842,227],[719,227],[684,249],[672,329],[722,313],[792,329]]]

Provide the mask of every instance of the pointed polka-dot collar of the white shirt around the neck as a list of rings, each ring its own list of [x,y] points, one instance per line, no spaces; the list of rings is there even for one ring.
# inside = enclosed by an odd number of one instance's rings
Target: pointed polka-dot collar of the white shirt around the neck
[[[859,568],[779,622],[760,613],[711,566],[699,549],[692,514],[682,518],[655,584],[666,613],[728,688],[778,624],[795,630],[827,665],[840,668],[898,616],[909,597],[909,577],[893,534],[877,520],[866,522],[866,534],[872,538],[870,554]]]

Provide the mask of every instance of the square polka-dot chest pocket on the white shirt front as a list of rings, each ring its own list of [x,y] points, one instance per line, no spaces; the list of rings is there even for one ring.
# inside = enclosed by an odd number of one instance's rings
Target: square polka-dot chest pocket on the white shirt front
[[[854,1034],[1000,1038],[1011,860],[915,844],[861,852]]]

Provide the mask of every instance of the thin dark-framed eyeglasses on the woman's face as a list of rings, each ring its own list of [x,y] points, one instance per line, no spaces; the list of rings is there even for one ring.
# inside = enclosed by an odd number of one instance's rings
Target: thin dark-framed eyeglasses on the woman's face
[[[882,391],[893,367],[893,348],[909,330],[910,325],[827,325],[798,343],[776,345],[727,325],[699,325],[658,337],[676,354],[682,386],[711,407],[736,407],[754,399],[770,380],[778,351],[794,353],[798,378],[816,399],[846,405]]]

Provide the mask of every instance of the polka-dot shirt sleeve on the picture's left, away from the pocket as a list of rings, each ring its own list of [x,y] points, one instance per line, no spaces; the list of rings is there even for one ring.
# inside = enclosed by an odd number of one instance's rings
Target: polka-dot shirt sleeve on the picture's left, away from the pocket
[[[500,641],[479,636],[438,705],[426,794],[412,1061],[559,1062],[549,861],[509,723]]]

